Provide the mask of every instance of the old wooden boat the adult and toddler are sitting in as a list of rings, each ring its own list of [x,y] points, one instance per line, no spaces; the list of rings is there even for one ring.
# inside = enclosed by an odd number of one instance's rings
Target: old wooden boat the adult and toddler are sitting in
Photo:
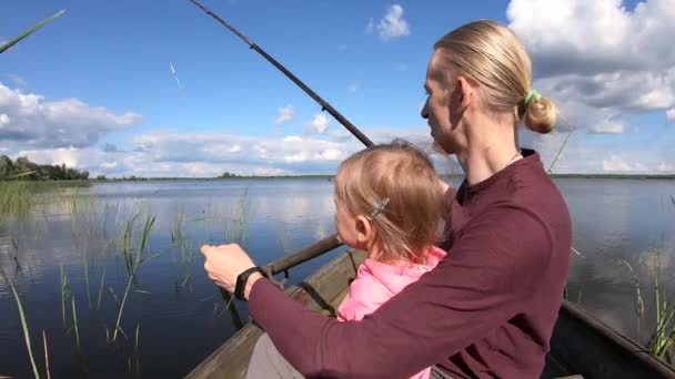
[[[329,238],[319,244],[323,243],[323,248],[339,245],[336,240]],[[271,273],[282,273],[311,258],[308,258],[306,249],[299,253],[303,254],[284,257],[285,262],[276,262],[270,265],[272,267],[266,267]],[[355,276],[356,268],[364,259],[364,252],[347,250],[299,286],[285,289],[285,293],[312,310],[325,315],[334,314],[334,309],[346,294],[350,279]],[[188,378],[245,378],[253,347],[261,334],[253,324],[246,325],[194,368]],[[560,310],[542,378],[675,379],[675,369],[565,300]]]

